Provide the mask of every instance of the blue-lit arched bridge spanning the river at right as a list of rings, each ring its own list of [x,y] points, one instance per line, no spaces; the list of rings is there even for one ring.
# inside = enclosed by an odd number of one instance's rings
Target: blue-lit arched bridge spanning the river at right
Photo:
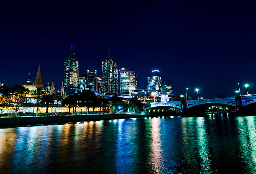
[[[171,101],[171,102],[151,102],[144,104],[144,110],[159,107],[159,106],[167,106],[167,107],[175,107],[181,110],[188,109],[201,104],[226,104],[233,107],[236,107],[237,110],[239,108],[246,106],[251,103],[256,102],[256,95],[248,95],[248,96],[236,96],[236,97],[226,97],[226,98],[214,98],[214,99],[197,99],[197,100],[181,100],[181,101]]]

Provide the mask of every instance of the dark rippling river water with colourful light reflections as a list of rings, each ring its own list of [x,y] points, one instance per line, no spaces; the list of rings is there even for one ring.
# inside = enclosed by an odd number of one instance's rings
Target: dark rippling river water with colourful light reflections
[[[0,173],[256,173],[256,117],[0,129]]]

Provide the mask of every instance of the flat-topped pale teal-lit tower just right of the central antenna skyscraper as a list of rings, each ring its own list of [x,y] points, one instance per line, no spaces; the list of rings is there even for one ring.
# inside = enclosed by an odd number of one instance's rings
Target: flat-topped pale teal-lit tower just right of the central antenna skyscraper
[[[120,95],[129,96],[129,70],[121,68],[119,70]]]

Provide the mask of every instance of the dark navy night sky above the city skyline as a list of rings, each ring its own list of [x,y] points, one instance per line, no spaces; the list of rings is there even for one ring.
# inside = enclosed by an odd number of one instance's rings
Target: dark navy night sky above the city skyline
[[[212,1],[215,2],[215,1]],[[243,2],[243,1],[241,1]],[[160,70],[173,91],[197,97],[256,92],[255,4],[144,1],[95,4],[3,6],[0,10],[0,81],[22,85],[38,64],[44,85],[61,89],[64,59],[70,44],[79,74],[97,70],[111,52],[118,68],[138,74],[138,89],[147,87],[151,70]]]

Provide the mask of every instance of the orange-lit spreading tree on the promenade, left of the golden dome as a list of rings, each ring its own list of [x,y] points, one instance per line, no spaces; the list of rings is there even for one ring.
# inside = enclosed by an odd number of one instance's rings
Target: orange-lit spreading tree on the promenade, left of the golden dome
[[[13,107],[13,110],[15,111],[15,117],[17,117],[18,110],[23,106],[25,102],[26,92],[28,92],[28,89],[25,89],[19,85],[14,85],[12,88],[7,90],[8,104]]]

